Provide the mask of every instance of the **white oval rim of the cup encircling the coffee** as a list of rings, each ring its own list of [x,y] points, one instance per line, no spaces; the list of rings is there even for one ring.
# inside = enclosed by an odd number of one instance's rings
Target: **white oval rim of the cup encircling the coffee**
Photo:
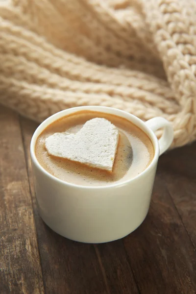
[[[61,180],[57,177],[55,177],[54,175],[52,175],[51,173],[47,172],[42,165],[39,163],[38,159],[36,158],[35,155],[35,144],[37,142],[37,138],[38,136],[41,134],[41,132],[51,123],[53,123],[54,121],[62,118],[63,116],[75,113],[75,112],[79,112],[82,110],[91,110],[91,111],[98,111],[98,112],[103,112],[103,113],[110,113],[110,114],[114,114],[116,116],[120,116],[122,118],[125,118],[127,120],[129,120],[131,123],[134,123],[137,127],[139,127],[140,129],[142,129],[142,131],[144,131],[147,136],[150,138],[153,148],[154,148],[154,157],[151,161],[151,163],[148,165],[148,167],[143,171],[140,172],[137,176],[135,176],[134,178],[119,182],[119,183],[114,183],[114,184],[108,184],[108,185],[103,185],[103,186],[91,186],[91,185],[78,185],[78,184],[74,184],[74,183],[70,183],[64,180]],[[114,112],[114,113],[113,113]],[[44,125],[44,128],[43,128]],[[77,107],[73,107],[73,108],[68,108],[68,109],[64,109],[61,110],[51,116],[49,116],[49,118],[47,118],[46,120],[44,120],[35,130],[35,132],[33,133],[33,136],[31,138],[31,142],[30,142],[30,156],[31,156],[31,161],[36,165],[36,167],[38,169],[41,170],[41,172],[43,172],[46,176],[48,176],[51,180],[54,180],[58,183],[64,184],[66,186],[70,186],[72,188],[80,188],[80,189],[109,189],[109,188],[115,188],[115,187],[119,187],[122,185],[126,185],[130,182],[133,182],[134,180],[137,180],[140,177],[143,177],[148,171],[150,171],[153,166],[155,165],[155,163],[158,160],[159,157],[159,143],[158,143],[158,139],[155,135],[155,133],[146,125],[145,122],[143,122],[141,119],[139,119],[138,117],[136,117],[133,114],[130,114],[126,111],[123,111],[121,109],[118,108],[113,108],[113,107],[107,107],[107,106],[77,106]]]

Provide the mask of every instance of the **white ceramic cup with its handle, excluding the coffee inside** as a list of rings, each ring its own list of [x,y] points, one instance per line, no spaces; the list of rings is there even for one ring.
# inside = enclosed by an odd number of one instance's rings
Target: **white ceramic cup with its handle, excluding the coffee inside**
[[[140,127],[154,146],[154,158],[147,169],[121,183],[92,187],[65,182],[47,172],[35,156],[38,136],[50,123],[81,110],[114,114]],[[154,131],[159,128],[164,132],[157,140]],[[104,106],[75,107],[52,115],[36,129],[30,145],[40,216],[52,230],[74,241],[104,243],[123,238],[146,218],[158,158],[172,140],[172,125],[161,117],[144,123],[125,111]]]

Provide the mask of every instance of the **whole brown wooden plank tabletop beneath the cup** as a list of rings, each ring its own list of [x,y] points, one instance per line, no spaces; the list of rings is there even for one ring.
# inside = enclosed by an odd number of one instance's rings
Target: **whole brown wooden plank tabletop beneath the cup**
[[[196,294],[196,143],[161,156],[136,231],[80,244],[39,217],[29,158],[37,125],[0,105],[0,294]]]

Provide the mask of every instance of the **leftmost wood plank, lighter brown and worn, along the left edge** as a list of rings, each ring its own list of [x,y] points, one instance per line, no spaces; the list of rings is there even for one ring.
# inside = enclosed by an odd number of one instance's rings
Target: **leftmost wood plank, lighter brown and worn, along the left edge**
[[[0,105],[0,293],[44,293],[18,115]]]

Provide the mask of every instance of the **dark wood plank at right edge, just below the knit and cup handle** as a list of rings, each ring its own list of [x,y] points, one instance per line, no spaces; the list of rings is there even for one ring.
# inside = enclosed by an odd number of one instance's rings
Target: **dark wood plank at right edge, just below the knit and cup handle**
[[[172,201],[196,249],[196,142],[164,155],[160,165]]]

